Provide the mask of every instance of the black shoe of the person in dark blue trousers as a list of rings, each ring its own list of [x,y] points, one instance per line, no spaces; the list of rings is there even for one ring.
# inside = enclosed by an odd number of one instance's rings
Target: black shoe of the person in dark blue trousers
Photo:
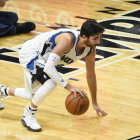
[[[16,34],[28,33],[36,28],[33,22],[16,23],[15,27],[16,27]]]

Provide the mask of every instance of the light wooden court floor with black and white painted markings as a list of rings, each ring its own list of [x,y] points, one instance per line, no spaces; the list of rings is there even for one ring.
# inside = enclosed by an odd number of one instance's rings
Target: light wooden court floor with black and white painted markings
[[[69,92],[58,86],[38,108],[42,131],[34,133],[21,124],[30,102],[9,97],[2,100],[0,140],[126,140],[140,135],[140,1],[10,0],[0,10],[16,12],[19,22],[36,24],[31,33],[0,38],[0,83],[13,88],[24,87],[18,52],[26,40],[57,28],[77,30],[89,18],[105,26],[97,47],[96,75],[98,103],[108,113],[98,117],[90,104],[84,115],[70,115],[65,109]],[[84,61],[68,68],[77,70],[62,77],[83,88],[91,102]]]

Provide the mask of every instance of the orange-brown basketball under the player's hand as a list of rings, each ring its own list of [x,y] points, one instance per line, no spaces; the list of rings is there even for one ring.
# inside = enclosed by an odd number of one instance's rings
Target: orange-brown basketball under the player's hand
[[[65,107],[72,115],[82,115],[89,108],[89,99],[87,96],[82,97],[80,93],[70,93],[65,100]]]

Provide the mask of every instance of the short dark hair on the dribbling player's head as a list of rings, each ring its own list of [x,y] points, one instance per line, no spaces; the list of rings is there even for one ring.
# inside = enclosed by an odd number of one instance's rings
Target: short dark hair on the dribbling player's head
[[[104,27],[102,27],[95,19],[89,19],[85,21],[81,27],[80,36],[85,35],[89,38],[91,35],[103,33]]]

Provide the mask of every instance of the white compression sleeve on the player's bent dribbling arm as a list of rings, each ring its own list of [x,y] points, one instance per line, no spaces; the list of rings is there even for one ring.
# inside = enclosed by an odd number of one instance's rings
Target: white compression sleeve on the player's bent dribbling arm
[[[60,61],[60,56],[55,53],[50,53],[47,63],[45,64],[44,72],[50,76],[50,78],[59,84],[61,87],[65,87],[68,83],[61,78],[57,72],[55,66]]]

